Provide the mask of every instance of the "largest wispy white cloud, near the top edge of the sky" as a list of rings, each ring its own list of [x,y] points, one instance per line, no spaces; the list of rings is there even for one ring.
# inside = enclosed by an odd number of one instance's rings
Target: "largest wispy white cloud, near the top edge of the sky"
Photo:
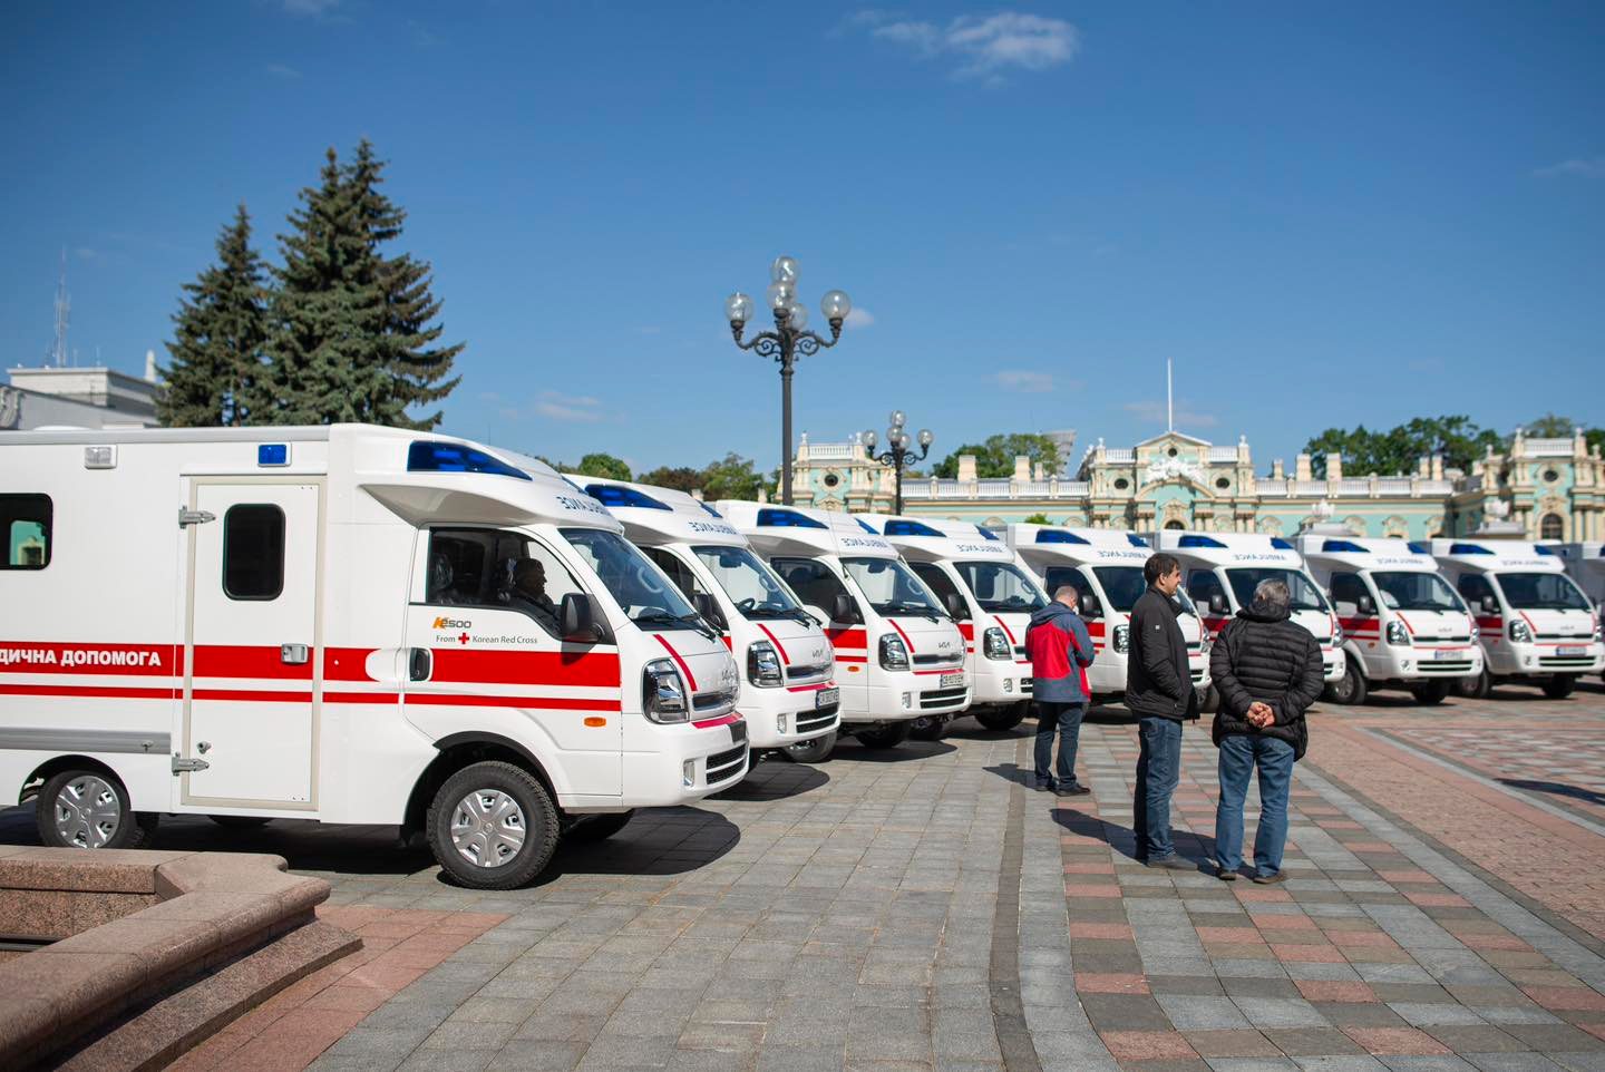
[[[953,77],[989,83],[1000,82],[1005,71],[1058,67],[1080,48],[1080,34],[1072,24],[1024,11],[961,14],[941,26],[865,10],[849,16],[844,26],[868,30],[870,37],[891,42],[921,59],[952,58],[958,63]]]

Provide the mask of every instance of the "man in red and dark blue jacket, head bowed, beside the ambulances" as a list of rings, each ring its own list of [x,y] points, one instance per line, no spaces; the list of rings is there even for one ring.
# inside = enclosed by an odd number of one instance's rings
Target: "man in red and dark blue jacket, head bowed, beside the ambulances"
[[[1091,793],[1075,780],[1075,746],[1087,714],[1087,668],[1093,661],[1093,639],[1075,613],[1079,595],[1069,584],[1053,594],[1053,602],[1030,616],[1026,653],[1030,656],[1030,693],[1037,705],[1037,788],[1059,796]],[[1059,733],[1059,777],[1048,767],[1053,733]]]

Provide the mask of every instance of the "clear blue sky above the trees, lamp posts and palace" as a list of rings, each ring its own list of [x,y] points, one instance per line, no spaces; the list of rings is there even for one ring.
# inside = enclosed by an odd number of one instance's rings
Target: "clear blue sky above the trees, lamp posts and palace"
[[[371,138],[465,340],[448,432],[778,457],[732,289],[862,310],[796,427],[936,453],[1469,412],[1605,424],[1605,6],[11,5],[0,359],[136,372],[244,199]]]

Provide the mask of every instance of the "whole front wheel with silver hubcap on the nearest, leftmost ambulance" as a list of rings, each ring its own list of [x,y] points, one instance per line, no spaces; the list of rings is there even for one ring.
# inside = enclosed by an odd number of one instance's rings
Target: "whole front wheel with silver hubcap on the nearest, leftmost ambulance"
[[[446,778],[429,806],[429,847],[457,883],[517,889],[557,849],[557,809],[533,774],[486,761]]]

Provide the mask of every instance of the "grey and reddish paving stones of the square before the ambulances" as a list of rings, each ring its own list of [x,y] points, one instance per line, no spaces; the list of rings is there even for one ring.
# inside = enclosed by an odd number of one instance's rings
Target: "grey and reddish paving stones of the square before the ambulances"
[[[1599,690],[1326,708],[1276,887],[1136,865],[1136,737],[1103,716],[1082,735],[1091,796],[1027,790],[1026,732],[966,719],[941,743],[764,764],[504,894],[445,884],[385,828],[172,820],[159,843],[281,852],[351,910],[506,916],[315,1069],[1605,1072],[1605,944],[1565,881],[1523,889],[1478,855],[1477,828],[1486,841],[1499,822],[1592,881],[1605,838],[1539,804],[1589,791],[1595,757],[1541,749],[1560,793],[1501,778],[1526,778],[1523,741],[1602,729]],[[1502,735],[1509,762],[1444,743],[1477,732]],[[1199,862],[1215,791],[1193,727],[1173,818]],[[1254,812],[1250,796],[1250,839]],[[30,836],[24,810],[0,814],[0,841]],[[303,1050],[260,1045],[231,1072],[300,1069]]]

